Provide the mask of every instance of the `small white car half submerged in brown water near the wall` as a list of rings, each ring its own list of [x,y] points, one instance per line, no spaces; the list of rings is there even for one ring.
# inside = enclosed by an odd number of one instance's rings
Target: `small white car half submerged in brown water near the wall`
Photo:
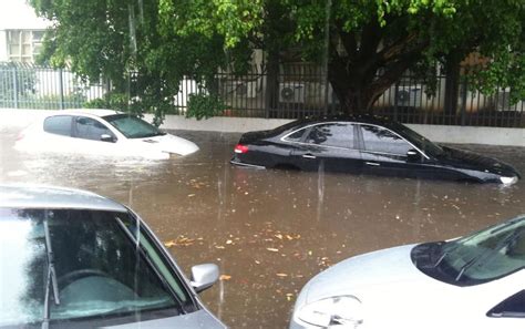
[[[110,156],[169,158],[198,151],[195,143],[112,110],[58,111],[22,132],[14,148]]]

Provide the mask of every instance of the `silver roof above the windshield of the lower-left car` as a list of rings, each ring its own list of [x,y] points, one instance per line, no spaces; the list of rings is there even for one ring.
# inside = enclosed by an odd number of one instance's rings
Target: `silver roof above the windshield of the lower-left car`
[[[127,212],[122,204],[87,191],[22,184],[0,184],[0,208],[2,207]]]

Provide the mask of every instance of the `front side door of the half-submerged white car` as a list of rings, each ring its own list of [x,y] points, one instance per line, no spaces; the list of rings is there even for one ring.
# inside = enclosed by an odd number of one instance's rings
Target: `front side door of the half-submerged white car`
[[[73,120],[73,137],[83,153],[119,154],[116,136],[103,123],[87,116],[75,116]]]

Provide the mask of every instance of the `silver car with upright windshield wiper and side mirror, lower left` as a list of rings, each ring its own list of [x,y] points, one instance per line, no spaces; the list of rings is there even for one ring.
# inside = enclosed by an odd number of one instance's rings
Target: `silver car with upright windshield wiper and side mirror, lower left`
[[[58,187],[0,185],[0,328],[226,328],[130,208]]]

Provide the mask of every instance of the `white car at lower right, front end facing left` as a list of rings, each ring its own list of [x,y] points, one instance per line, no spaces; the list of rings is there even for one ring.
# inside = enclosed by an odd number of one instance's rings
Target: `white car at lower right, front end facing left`
[[[303,287],[290,328],[523,329],[525,215],[343,260]]]

